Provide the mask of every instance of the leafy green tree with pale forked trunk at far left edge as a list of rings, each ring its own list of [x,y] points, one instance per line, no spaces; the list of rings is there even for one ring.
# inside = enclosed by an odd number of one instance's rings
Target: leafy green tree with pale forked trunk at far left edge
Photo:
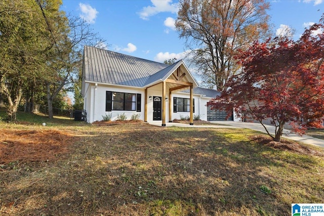
[[[26,80],[38,76],[42,34],[32,0],[0,2],[0,87],[8,103],[8,119],[16,119]]]

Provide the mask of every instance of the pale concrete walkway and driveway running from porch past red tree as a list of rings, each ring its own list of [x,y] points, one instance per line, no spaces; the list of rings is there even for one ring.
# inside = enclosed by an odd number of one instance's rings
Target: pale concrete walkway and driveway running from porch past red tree
[[[259,131],[266,133],[264,127],[260,123],[252,123],[252,122],[235,122],[235,121],[211,121],[212,123],[215,123],[215,125],[208,124],[208,125],[189,125],[189,124],[183,124],[183,123],[174,123],[174,122],[167,122],[167,126],[178,126],[178,127],[207,127],[207,128],[248,128],[253,129],[254,131]],[[152,125],[161,126],[161,123],[150,123]],[[223,124],[223,125],[217,125],[217,124]],[[271,125],[266,125],[268,131],[270,134],[274,135],[275,127]],[[310,136],[299,136],[296,134],[292,134],[291,131],[288,129],[284,129],[284,135],[282,135],[282,138],[302,142],[305,144],[310,144],[314,146],[319,146],[324,148],[324,140],[313,138]]]

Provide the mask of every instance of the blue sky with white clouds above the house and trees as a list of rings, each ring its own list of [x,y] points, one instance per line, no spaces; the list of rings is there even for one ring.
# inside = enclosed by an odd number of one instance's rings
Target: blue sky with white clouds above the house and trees
[[[295,29],[295,40],[324,13],[324,0],[269,2],[273,32]],[[87,20],[106,40],[108,50],[163,62],[185,56],[184,40],[174,29],[177,3],[175,0],[63,0],[61,9]]]

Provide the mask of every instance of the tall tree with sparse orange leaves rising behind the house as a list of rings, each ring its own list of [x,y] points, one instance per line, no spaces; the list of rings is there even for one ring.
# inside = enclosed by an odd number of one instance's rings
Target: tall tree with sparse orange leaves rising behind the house
[[[264,0],[180,0],[176,29],[204,84],[223,90],[239,67],[233,56],[268,32]]]

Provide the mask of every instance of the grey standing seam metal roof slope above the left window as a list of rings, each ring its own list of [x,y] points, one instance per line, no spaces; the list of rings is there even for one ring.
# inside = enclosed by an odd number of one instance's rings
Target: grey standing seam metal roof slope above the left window
[[[143,87],[150,76],[159,71],[158,74],[164,74],[162,70],[170,67],[168,64],[89,46],[85,46],[84,55],[86,80],[102,83]]]

